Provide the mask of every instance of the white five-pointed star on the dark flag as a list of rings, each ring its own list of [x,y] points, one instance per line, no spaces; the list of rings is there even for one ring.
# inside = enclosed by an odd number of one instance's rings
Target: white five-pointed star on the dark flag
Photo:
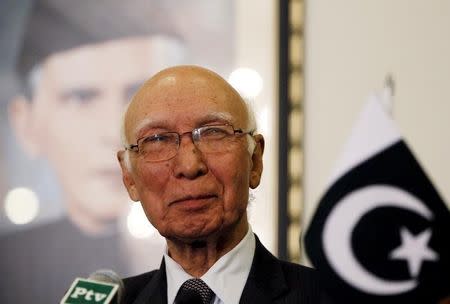
[[[402,259],[408,262],[409,274],[417,277],[423,261],[436,261],[439,255],[431,250],[427,244],[431,237],[431,229],[427,229],[417,236],[402,227],[400,230],[402,244],[389,255],[391,259]]]

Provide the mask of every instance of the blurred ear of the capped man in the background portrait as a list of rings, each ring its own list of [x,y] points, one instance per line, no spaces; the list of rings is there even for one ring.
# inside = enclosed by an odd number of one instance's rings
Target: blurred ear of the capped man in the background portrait
[[[40,141],[34,125],[33,104],[25,96],[14,97],[8,106],[11,128],[19,144],[32,158],[41,153]]]

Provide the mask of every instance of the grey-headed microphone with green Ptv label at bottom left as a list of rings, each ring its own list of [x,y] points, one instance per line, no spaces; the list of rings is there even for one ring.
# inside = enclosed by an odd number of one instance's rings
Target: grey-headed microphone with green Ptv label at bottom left
[[[120,304],[124,290],[122,279],[114,271],[100,269],[87,279],[76,278],[60,304]]]

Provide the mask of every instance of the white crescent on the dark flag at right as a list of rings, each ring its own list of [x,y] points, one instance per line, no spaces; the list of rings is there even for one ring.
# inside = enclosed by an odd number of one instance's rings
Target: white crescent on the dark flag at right
[[[367,293],[390,295],[407,292],[417,286],[416,280],[378,278],[359,263],[352,250],[351,236],[356,224],[365,214],[379,207],[407,209],[427,220],[433,218],[433,213],[422,201],[400,188],[388,185],[361,188],[342,198],[331,211],[323,232],[325,254],[344,280]]]

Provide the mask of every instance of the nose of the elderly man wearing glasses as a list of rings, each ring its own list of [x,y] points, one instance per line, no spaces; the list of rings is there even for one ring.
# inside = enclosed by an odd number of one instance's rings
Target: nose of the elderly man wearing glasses
[[[180,137],[180,146],[175,156],[174,174],[178,178],[195,179],[208,172],[203,154],[191,136]]]

